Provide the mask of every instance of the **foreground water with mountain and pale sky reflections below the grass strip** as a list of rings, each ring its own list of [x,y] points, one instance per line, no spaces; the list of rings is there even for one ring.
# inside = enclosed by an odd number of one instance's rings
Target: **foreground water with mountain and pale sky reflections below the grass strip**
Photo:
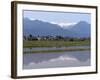
[[[90,51],[24,54],[23,68],[90,66]]]

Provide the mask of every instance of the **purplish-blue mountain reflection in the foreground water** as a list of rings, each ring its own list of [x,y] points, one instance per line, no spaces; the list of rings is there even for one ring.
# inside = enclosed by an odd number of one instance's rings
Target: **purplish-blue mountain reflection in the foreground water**
[[[87,61],[90,59],[90,51],[76,51],[76,52],[62,52],[62,53],[37,53],[37,54],[24,54],[24,64],[30,62],[41,63],[59,57],[71,57],[78,61]]]

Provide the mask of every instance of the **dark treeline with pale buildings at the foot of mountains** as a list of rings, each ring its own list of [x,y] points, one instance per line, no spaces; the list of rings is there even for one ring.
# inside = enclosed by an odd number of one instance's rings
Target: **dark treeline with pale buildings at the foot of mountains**
[[[47,35],[47,36],[34,36],[34,35],[24,35],[23,36],[23,40],[28,40],[28,41],[31,41],[31,40],[64,40],[64,41],[84,41],[84,40],[90,40],[90,37],[88,38],[77,38],[77,37],[63,37],[63,36],[60,36],[60,35],[57,35],[57,36],[50,36],[50,35]]]

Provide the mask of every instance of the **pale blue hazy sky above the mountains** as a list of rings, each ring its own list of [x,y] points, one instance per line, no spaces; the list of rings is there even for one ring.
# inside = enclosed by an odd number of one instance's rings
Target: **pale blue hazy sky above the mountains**
[[[38,19],[55,23],[77,23],[79,21],[91,22],[91,14],[75,12],[50,12],[50,11],[23,11],[23,17],[32,20]]]

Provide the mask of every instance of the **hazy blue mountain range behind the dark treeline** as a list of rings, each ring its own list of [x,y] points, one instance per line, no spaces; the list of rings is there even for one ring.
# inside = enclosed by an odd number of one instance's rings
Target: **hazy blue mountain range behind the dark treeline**
[[[65,37],[89,37],[90,24],[85,21],[80,21],[69,28],[62,28],[58,24],[44,22],[42,20],[30,20],[23,18],[24,35],[40,35],[40,36],[65,36]],[[68,27],[68,26],[67,26]]]

